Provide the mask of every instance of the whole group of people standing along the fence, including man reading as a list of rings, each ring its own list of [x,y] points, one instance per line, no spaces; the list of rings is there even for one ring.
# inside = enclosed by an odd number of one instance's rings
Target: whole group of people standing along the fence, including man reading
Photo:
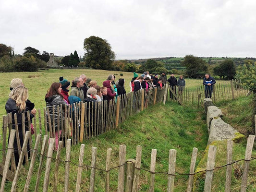
[[[47,112],[47,126],[49,129],[49,120],[50,122],[55,122],[52,130],[55,130],[55,139],[56,147],[58,148],[58,142],[61,134],[61,127],[59,126],[62,120],[65,118],[65,114],[60,114],[57,112],[57,106],[62,104],[62,108],[65,108],[65,105],[72,105],[76,102],[101,102],[101,101],[110,101],[114,100],[116,96],[126,94],[124,88],[124,79],[120,78],[115,82],[115,75],[110,74],[106,81],[102,83],[103,86],[99,86],[96,81],[88,81],[85,74],[80,75],[80,77],[74,78],[70,90],[70,82],[63,77],[59,78],[59,82],[52,83],[47,94],[45,96],[46,106],[49,108]],[[149,72],[144,72],[139,76],[134,72],[134,77],[130,82],[131,91],[136,92],[140,89],[145,89],[146,93],[148,90],[154,87],[163,87],[165,84],[169,83],[171,89],[176,94],[176,87],[178,87],[178,93],[181,95],[185,87],[185,80],[183,76],[180,75],[177,80],[174,77],[174,74],[171,74],[170,78],[167,79],[166,73],[162,72],[158,79],[158,74],[152,75]],[[215,80],[209,74],[205,75],[203,84],[205,85],[205,94],[206,97],[211,98],[213,91],[213,84]],[[24,86],[22,79],[15,78],[12,79],[10,84],[11,93],[9,94],[9,99],[6,102],[5,109],[7,113],[12,113],[12,129],[15,129],[14,114],[17,114],[18,121],[18,130],[19,130],[19,140],[21,146],[23,145],[23,132],[22,132],[22,113],[30,111],[30,120],[25,115],[25,131],[28,131],[29,124],[32,123],[32,119],[37,113],[37,110],[34,108],[35,104],[28,100],[28,89]],[[170,91],[170,97],[173,98],[173,94]],[[53,110],[54,108],[54,110]],[[53,112],[54,111],[54,112]],[[49,114],[48,114],[49,113]],[[59,122],[58,122],[59,120]],[[32,126],[32,124],[31,124]],[[59,126],[59,127],[58,127]],[[17,139],[14,140],[14,156],[16,166],[18,165],[19,155],[18,155],[18,145]],[[29,144],[27,144],[27,150],[29,150]]]

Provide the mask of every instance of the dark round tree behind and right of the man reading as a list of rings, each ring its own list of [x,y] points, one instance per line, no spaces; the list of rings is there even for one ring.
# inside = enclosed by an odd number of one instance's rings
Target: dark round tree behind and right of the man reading
[[[235,77],[235,64],[233,60],[224,60],[213,71],[220,78],[232,80]]]

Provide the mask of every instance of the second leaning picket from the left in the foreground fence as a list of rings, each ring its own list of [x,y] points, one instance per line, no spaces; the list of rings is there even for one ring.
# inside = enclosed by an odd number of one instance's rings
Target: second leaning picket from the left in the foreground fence
[[[24,143],[23,143],[23,146],[22,146],[21,156],[19,158],[19,163],[18,163],[18,166],[17,166],[17,169],[16,169],[16,173],[15,173],[14,179],[12,181],[11,192],[16,191],[17,180],[18,180],[18,176],[19,176],[19,173],[20,173],[20,168],[22,166],[22,162],[23,162],[23,159],[24,159],[24,154],[27,151],[27,142],[29,140],[29,137],[31,137],[31,132],[27,131],[26,135],[25,135]]]

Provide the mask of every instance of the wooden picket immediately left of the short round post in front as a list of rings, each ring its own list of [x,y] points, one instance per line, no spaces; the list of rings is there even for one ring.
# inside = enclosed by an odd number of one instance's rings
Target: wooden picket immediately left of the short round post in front
[[[126,156],[126,146],[124,144],[119,145],[119,166],[120,167],[118,171],[117,192],[124,192],[125,156]]]

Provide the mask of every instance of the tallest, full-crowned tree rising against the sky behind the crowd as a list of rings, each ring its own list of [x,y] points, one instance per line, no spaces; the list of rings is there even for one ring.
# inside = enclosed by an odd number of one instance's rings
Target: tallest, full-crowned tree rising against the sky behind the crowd
[[[85,64],[94,69],[111,70],[115,53],[107,40],[98,36],[85,38]]]

